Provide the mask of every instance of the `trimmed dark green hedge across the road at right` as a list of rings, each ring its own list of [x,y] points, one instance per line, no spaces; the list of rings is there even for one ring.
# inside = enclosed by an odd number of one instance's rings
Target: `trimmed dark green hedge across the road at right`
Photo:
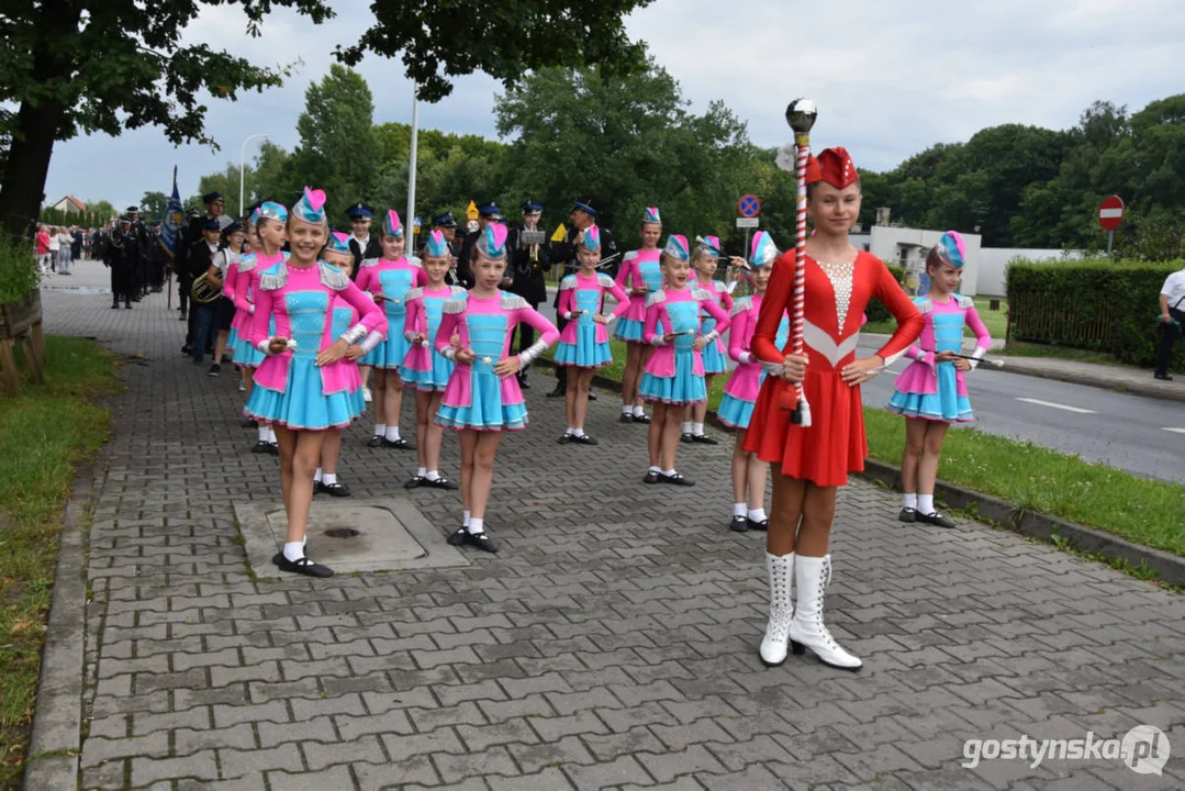
[[[1140,368],[1157,356],[1158,295],[1179,261],[1016,261],[1007,269],[1008,339],[1089,349]],[[1185,370],[1185,350],[1171,366]]]

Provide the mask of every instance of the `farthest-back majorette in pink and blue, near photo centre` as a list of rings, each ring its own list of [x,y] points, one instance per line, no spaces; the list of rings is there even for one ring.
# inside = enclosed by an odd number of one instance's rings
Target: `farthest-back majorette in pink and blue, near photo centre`
[[[649,362],[654,346],[642,340],[646,324],[646,298],[662,288],[662,269],[659,267],[659,238],[662,236],[662,218],[658,206],[647,206],[642,213],[640,231],[642,247],[630,250],[621,259],[617,285],[629,294],[629,311],[617,319],[613,337],[626,343],[626,370],[621,375],[621,422],[648,423],[651,419],[642,408],[638,384],[642,378],[642,366]]]

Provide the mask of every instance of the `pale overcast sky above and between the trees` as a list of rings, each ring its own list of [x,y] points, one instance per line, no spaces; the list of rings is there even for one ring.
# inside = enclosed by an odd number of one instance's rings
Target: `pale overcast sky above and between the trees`
[[[184,198],[204,173],[237,162],[249,135],[267,133],[292,149],[305,89],[328,71],[334,44],[357,39],[372,19],[366,0],[329,2],[338,12],[331,23],[318,27],[281,11],[260,39],[246,37],[235,7],[207,8],[191,40],[258,63],[301,60],[297,74],[235,103],[211,100],[207,129],[219,152],[174,148],[156,129],[57,143],[47,202],[73,194],[122,208],[146,190],[167,192],[174,164]],[[858,166],[873,170],[984,127],[1062,129],[1096,98],[1138,110],[1183,90],[1180,0],[658,0],[627,27],[649,44],[693,109],[723,100],[754,142],[780,146],[789,139],[787,102],[809,96],[820,111],[815,149],[844,145]],[[398,59],[371,56],[359,71],[374,94],[376,122],[410,122],[411,84]],[[461,78],[448,98],[421,104],[421,127],[495,138],[499,88],[483,75]],[[228,210],[236,204],[233,196]]]

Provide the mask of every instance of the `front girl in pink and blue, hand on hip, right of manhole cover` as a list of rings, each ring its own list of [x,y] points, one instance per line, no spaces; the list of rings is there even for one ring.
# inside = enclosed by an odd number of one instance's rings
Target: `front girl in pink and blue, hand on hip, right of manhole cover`
[[[486,225],[475,250],[473,291],[467,299],[444,304],[444,317],[436,332],[436,350],[456,363],[441,397],[436,423],[461,433],[463,519],[448,542],[469,543],[495,553],[498,547],[485,530],[494,458],[502,432],[520,430],[527,423],[523,390],[514,375],[556,343],[559,331],[521,296],[499,289],[506,273],[505,225]],[[511,355],[511,334],[519,321],[531,324],[540,338],[518,355]]]

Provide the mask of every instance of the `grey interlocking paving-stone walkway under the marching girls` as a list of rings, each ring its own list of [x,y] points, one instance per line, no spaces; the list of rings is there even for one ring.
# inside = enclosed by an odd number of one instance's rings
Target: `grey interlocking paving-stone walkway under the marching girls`
[[[902,525],[892,496],[854,481],[827,613],[865,669],[768,670],[763,537],[724,527],[730,441],[680,448],[694,489],[643,486],[645,429],[602,397],[601,445],[557,445],[546,377],[500,452],[499,555],[252,581],[232,503],[278,503],[276,461],[248,452],[236,377],[180,356],[164,295],[108,300],[44,294],[47,332],[127,361],[87,555],[83,789],[1185,786],[1179,595],[981,524]],[[356,496],[411,498],[455,529],[456,495],[406,492],[415,454],[366,448],[369,427],[346,434]],[[1119,759],[961,766],[967,739],[1141,723],[1172,745],[1161,776]]]

